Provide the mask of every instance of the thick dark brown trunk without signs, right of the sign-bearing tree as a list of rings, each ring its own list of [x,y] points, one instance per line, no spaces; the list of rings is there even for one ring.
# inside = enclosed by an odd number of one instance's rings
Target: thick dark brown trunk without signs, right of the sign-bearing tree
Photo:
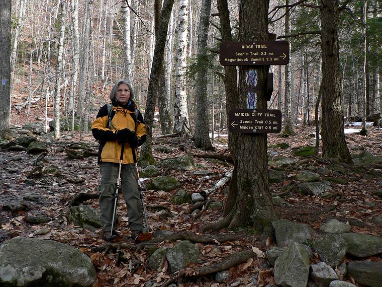
[[[337,0],[321,4],[322,49],[322,151],[326,158],[351,163],[345,141],[338,55],[339,8]]]

